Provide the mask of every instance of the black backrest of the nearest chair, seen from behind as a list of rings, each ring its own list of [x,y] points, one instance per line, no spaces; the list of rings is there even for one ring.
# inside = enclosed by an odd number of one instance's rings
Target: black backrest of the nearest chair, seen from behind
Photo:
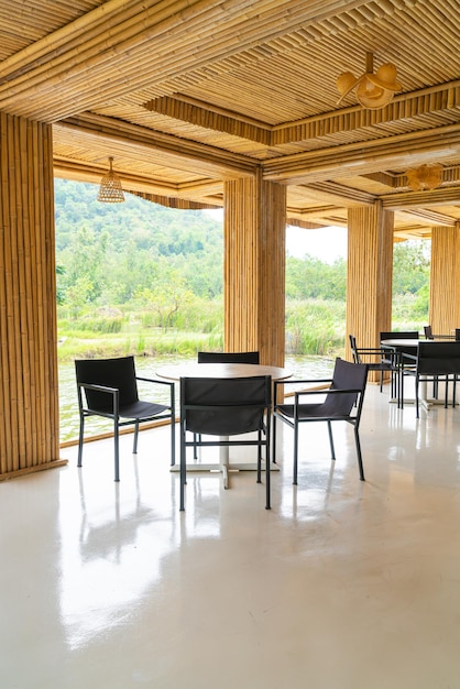
[[[271,407],[270,375],[180,379],[180,420],[197,434],[232,436],[264,427]]]

